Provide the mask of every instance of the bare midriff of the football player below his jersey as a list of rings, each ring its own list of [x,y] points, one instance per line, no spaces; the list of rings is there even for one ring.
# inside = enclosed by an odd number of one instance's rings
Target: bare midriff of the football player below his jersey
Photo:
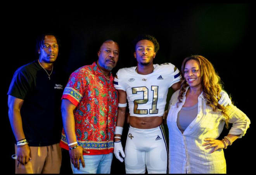
[[[130,116],[130,125],[138,129],[151,129],[160,126],[163,117],[134,117]]]

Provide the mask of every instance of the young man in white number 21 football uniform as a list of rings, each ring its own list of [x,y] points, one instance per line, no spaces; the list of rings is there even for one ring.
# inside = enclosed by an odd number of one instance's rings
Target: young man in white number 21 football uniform
[[[158,50],[156,38],[138,36],[134,52],[137,66],[119,69],[114,79],[119,94],[114,154],[121,162],[125,158],[126,173],[145,173],[146,168],[148,173],[167,173],[168,170],[168,148],[162,122],[168,89],[178,90],[181,76],[171,63],[153,64]],[[126,98],[130,127],[124,153],[121,134]]]

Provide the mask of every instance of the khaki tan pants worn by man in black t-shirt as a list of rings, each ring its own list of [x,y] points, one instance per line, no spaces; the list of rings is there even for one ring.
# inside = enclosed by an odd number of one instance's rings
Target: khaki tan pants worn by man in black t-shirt
[[[15,160],[15,173],[60,173],[61,147],[59,143],[50,146],[30,146],[31,160],[22,165]],[[15,154],[17,146],[15,145]]]

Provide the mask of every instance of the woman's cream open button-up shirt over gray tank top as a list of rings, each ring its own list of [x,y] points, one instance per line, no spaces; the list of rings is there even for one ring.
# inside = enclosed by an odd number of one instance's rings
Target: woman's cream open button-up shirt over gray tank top
[[[187,87],[187,90],[189,87]],[[212,108],[206,105],[203,93],[198,97],[197,117],[190,123],[183,134],[177,126],[178,112],[185,103],[186,96],[182,103],[178,101],[179,91],[171,97],[167,125],[169,130],[169,173],[226,173],[226,161],[223,149],[210,153],[212,149],[204,149],[204,139],[217,139],[225,125],[225,117],[221,112],[213,112]],[[186,93],[185,92],[185,93]],[[227,106],[229,123],[232,127],[229,134],[246,134],[249,128],[249,118],[236,106]]]

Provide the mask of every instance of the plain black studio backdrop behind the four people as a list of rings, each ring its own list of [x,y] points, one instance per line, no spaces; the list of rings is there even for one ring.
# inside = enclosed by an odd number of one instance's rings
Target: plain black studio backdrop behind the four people
[[[169,5],[168,5],[169,6]],[[72,9],[72,8],[70,8]],[[57,33],[61,39],[56,69],[69,75],[83,65],[97,60],[101,43],[113,39],[119,43],[119,61],[112,70],[136,65],[133,57],[133,39],[142,33],[155,36],[160,44],[154,63],[171,62],[180,69],[182,61],[190,55],[202,55],[213,63],[224,82],[224,89],[232,95],[235,105],[251,120],[250,128],[242,139],[224,150],[227,173],[251,172],[251,157],[254,154],[254,115],[251,102],[253,77],[252,10],[251,4],[180,4],[171,7],[125,10],[111,9],[17,9],[10,17],[9,68],[5,69],[7,93],[15,70],[37,59],[36,36],[43,32]],[[168,93],[170,100],[171,91]],[[14,173],[14,136],[9,124],[7,96],[5,100],[4,136],[8,146],[4,149],[9,170]],[[166,130],[167,131],[167,130]],[[223,130],[223,136],[227,134]],[[125,144],[126,137],[123,137]],[[123,145],[124,146],[124,145]],[[124,163],[115,157],[112,173],[125,173]],[[69,155],[63,151],[61,173],[71,173]]]

